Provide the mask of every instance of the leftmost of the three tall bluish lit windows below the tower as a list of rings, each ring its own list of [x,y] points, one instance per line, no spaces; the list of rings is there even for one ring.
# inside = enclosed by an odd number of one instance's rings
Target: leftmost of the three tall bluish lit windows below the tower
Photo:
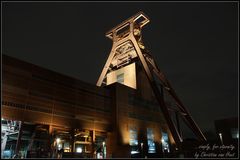
[[[131,146],[131,154],[139,153],[137,129],[134,127],[130,128],[129,134],[130,134],[129,145]]]

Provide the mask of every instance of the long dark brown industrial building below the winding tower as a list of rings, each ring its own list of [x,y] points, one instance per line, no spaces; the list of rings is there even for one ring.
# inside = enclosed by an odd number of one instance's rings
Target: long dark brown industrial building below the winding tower
[[[171,152],[174,141],[140,69],[141,89],[122,85],[117,75],[118,83],[100,88],[2,58],[2,158],[57,157],[61,149],[65,157],[89,158]]]

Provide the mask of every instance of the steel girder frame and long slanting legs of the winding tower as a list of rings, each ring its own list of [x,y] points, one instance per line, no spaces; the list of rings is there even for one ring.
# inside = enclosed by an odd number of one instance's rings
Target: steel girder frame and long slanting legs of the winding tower
[[[140,20],[140,22],[139,22]],[[130,17],[129,19],[125,20],[121,24],[117,25],[116,27],[112,28],[110,31],[106,33],[106,37],[112,39],[113,46],[111,49],[111,52],[109,54],[109,57],[107,59],[107,62],[102,70],[102,73],[97,81],[97,86],[101,86],[104,79],[106,78],[106,74],[111,71],[111,61],[113,60],[116,49],[126,41],[131,41],[132,45],[135,48],[135,51],[137,53],[137,57],[139,58],[144,71],[146,73],[146,76],[148,78],[148,81],[151,85],[151,88],[153,90],[153,93],[155,94],[155,97],[159,103],[159,106],[163,112],[163,115],[166,119],[166,122],[168,124],[168,127],[170,129],[170,132],[174,138],[174,141],[177,144],[180,144],[183,139],[175,126],[171,115],[169,113],[169,108],[167,107],[163,93],[161,93],[160,89],[158,88],[157,81],[154,78],[154,75],[158,78],[158,80],[161,82],[161,86],[165,91],[173,98],[173,100],[176,103],[176,106],[180,110],[183,121],[188,125],[188,127],[193,131],[193,133],[197,136],[197,138],[200,141],[206,141],[205,136],[201,132],[200,128],[197,126],[197,124],[194,122],[192,117],[190,116],[189,112],[187,111],[186,107],[183,105],[181,100],[178,98],[177,94],[175,93],[174,89],[171,87],[169,81],[167,80],[166,76],[161,72],[161,70],[158,68],[157,64],[155,63],[153,57],[149,52],[139,47],[139,42],[136,39],[136,36],[134,36],[134,28],[136,24],[140,27],[140,30],[142,27],[144,27],[147,23],[149,23],[149,18],[143,13],[139,12],[136,15]],[[119,30],[122,30],[124,27],[129,26],[129,31],[125,34],[125,36],[122,36],[123,38],[119,38],[117,33]]]

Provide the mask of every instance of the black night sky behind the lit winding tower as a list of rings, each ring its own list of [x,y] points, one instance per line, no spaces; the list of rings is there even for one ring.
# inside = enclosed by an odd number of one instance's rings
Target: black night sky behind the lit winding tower
[[[238,3],[2,3],[3,54],[95,84],[105,32],[143,11],[143,40],[194,120],[238,116]]]

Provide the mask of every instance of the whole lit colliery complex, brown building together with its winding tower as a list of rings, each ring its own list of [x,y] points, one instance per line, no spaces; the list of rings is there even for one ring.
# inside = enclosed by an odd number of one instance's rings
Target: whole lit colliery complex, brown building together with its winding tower
[[[4,55],[2,158],[165,157],[183,142],[178,117],[205,141],[142,42],[149,21],[139,12],[106,33],[96,85]]]

